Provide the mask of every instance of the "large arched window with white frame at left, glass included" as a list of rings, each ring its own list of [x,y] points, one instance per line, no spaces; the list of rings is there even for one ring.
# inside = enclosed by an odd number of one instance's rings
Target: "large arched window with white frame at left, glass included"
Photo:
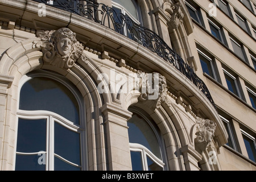
[[[15,170],[85,169],[82,104],[75,86],[61,80],[45,75],[22,78]]]

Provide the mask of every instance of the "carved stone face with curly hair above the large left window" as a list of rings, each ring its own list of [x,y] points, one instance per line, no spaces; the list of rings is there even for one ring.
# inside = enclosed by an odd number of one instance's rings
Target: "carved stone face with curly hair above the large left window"
[[[41,41],[36,47],[42,47],[45,64],[60,68],[72,68],[76,61],[87,57],[83,54],[84,46],[76,40],[76,33],[69,28],[60,28],[52,31],[38,31],[36,34]]]

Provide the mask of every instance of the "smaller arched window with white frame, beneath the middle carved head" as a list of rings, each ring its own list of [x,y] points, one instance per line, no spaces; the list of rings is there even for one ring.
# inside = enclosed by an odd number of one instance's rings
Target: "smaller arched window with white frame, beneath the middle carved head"
[[[135,110],[129,119],[131,164],[134,171],[163,171],[162,140],[149,119]]]

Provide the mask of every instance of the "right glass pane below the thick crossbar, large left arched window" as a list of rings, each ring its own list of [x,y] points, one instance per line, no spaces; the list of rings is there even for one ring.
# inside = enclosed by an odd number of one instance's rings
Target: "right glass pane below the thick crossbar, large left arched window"
[[[80,134],[56,122],[54,127],[54,153],[69,162],[81,165]]]

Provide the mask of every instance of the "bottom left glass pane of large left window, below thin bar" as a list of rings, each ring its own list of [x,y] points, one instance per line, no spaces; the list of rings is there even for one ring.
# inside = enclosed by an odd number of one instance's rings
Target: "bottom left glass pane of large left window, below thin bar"
[[[40,155],[16,155],[15,171],[45,171],[46,165],[39,164]]]

